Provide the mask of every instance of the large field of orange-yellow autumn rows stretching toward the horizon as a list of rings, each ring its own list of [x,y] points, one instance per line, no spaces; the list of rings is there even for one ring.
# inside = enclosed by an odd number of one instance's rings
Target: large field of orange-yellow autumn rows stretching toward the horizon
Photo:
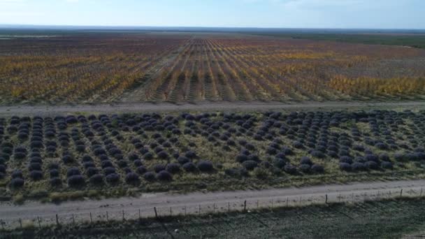
[[[422,99],[425,50],[243,34],[0,41],[0,103]]]

